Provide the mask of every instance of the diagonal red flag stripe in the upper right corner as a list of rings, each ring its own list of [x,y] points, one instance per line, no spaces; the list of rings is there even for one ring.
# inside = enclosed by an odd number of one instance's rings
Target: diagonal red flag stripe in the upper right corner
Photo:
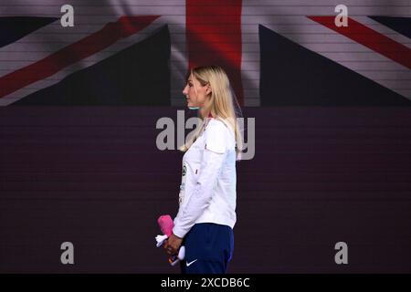
[[[335,16],[307,16],[311,20],[326,26],[343,36],[347,36],[357,43],[369,47],[375,52],[388,57],[395,62],[411,68],[411,49],[395,40],[362,25],[359,22],[348,18],[348,26],[335,26]]]

